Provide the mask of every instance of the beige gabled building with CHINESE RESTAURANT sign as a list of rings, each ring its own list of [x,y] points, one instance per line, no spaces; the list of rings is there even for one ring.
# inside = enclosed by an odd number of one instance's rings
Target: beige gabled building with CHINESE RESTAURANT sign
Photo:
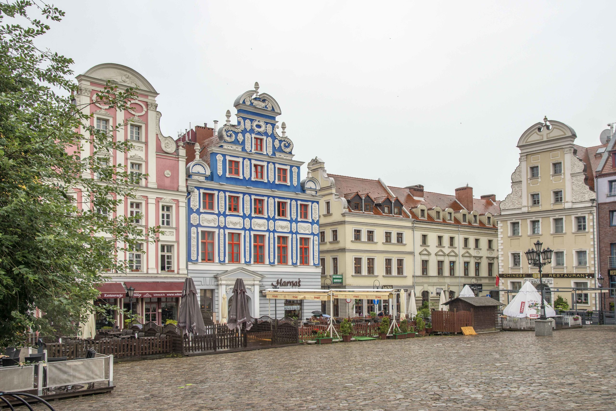
[[[500,289],[519,290],[525,281],[539,287],[524,252],[537,240],[554,250],[543,268],[546,300],[562,295],[570,306],[596,309],[597,239],[594,174],[605,146],[575,145],[575,131],[559,121],[534,124],[519,138],[520,162],[511,175],[511,194],[500,204],[498,272]],[[540,290],[539,290],[540,291]],[[501,292],[501,302],[508,303]]]

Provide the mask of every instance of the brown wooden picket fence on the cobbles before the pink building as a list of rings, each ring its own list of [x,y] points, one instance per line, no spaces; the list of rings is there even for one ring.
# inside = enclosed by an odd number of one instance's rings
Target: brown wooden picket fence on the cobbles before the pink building
[[[47,356],[68,357],[68,359],[85,358],[87,350],[94,348],[99,354],[113,354],[116,358],[149,356],[172,352],[171,336],[118,338],[115,340],[70,340],[63,343],[45,345]]]

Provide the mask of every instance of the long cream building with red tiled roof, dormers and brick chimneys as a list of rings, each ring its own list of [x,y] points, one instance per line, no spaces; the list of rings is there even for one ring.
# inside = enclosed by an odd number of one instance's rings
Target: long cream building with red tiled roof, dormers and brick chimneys
[[[478,294],[493,293],[498,264],[495,196],[474,199],[468,186],[452,196],[424,191],[422,185],[401,188],[381,179],[328,174],[318,158],[308,167],[322,196],[324,287],[402,289],[407,300],[414,289],[418,305],[437,304],[441,292],[453,298],[466,284]],[[334,315],[346,316],[391,313],[394,301],[337,303]]]

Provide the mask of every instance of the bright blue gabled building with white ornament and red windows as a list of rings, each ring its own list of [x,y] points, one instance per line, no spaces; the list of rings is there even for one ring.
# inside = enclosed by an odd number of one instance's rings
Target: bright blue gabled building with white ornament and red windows
[[[228,318],[237,278],[246,284],[251,316],[310,316],[318,301],[274,302],[262,291],[321,287],[319,183],[310,175],[299,180],[304,163],[293,159],[285,123],[278,126],[280,106],[258,83],[233,106],[237,124],[227,110],[216,134],[201,145],[195,140],[187,164],[188,276],[201,310],[218,322]]]

